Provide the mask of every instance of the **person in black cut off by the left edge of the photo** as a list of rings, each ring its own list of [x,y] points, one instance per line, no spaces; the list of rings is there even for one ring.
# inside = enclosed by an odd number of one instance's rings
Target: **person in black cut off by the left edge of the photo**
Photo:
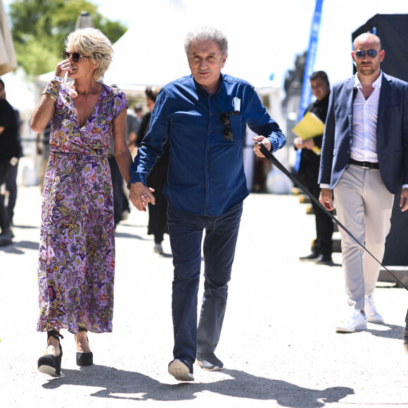
[[[6,182],[19,156],[17,117],[13,106],[6,101],[4,82],[0,79],[0,186]],[[8,245],[14,235],[4,200],[0,200],[0,228],[0,245]]]

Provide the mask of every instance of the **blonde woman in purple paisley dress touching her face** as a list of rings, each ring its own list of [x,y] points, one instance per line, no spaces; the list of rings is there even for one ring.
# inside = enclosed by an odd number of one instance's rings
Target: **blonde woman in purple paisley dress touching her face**
[[[107,153],[129,181],[132,156],[126,141],[127,99],[100,79],[113,58],[99,30],[68,35],[64,60],[30,119],[34,132],[51,120],[50,159],[43,186],[39,246],[37,331],[46,331],[38,369],[60,375],[60,329],[75,334],[76,362],[93,363],[87,332],[112,331],[115,237]],[[73,78],[65,84],[63,77]]]

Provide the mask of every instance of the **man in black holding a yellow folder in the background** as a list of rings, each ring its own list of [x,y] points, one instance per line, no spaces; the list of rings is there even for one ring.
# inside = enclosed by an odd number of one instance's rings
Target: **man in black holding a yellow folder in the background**
[[[326,72],[316,71],[310,76],[312,93],[316,96],[316,101],[308,106],[307,112],[314,113],[322,122],[326,122],[327,110],[329,108],[330,84]],[[295,148],[302,149],[300,155],[299,176],[302,177],[307,189],[314,197],[319,198],[320,187],[317,183],[319,177],[320,155],[314,153],[314,147],[321,148],[323,134],[311,139],[302,140],[297,137],[294,140]],[[312,202],[314,216],[316,218],[316,240],[312,253],[305,257],[300,257],[301,261],[312,260],[318,264],[331,264],[333,222],[319,206]]]

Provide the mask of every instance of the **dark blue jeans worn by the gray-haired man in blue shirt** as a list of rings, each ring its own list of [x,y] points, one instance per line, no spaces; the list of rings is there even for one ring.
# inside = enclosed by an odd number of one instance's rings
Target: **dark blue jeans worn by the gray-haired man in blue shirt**
[[[228,282],[234,261],[243,203],[219,217],[202,217],[167,210],[174,280],[172,316],[174,358],[214,352],[227,307]],[[197,293],[200,281],[201,241],[204,238],[204,295],[197,328]]]

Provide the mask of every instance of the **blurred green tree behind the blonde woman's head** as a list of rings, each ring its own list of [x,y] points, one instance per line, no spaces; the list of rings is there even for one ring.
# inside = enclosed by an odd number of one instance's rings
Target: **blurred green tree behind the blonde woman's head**
[[[127,30],[117,21],[98,13],[98,6],[87,0],[15,0],[10,19],[18,65],[34,77],[52,71],[61,60],[65,37],[75,30],[82,11],[91,15],[95,28],[115,42]]]

